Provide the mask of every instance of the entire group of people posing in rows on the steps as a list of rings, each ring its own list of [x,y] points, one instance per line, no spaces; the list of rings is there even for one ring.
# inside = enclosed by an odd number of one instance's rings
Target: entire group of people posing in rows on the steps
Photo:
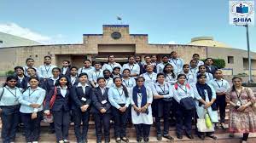
[[[222,71],[193,54],[189,64],[177,58],[177,52],[163,55],[158,63],[156,55],[131,55],[128,63],[120,66],[114,56],[108,56],[103,66],[84,60],[84,66],[70,66],[64,60],[62,67],[51,65],[51,57],[44,57],[44,65],[34,67],[28,58],[26,66],[16,66],[15,75],[9,76],[0,88],[2,140],[15,141],[18,124],[24,124],[26,142],[38,142],[40,123],[44,116],[53,116],[50,123],[56,141],[67,143],[68,129],[73,117],[77,142],[88,142],[90,115],[93,115],[96,142],[110,142],[110,124],[114,123],[117,143],[129,142],[126,124],[131,121],[137,142],[148,142],[150,127],[155,123],[156,138],[173,140],[169,135],[170,118],[176,123],[177,139],[183,133],[189,139],[192,120],[209,115],[212,123],[225,129],[225,107],[230,104],[230,137],[243,133],[246,142],[249,132],[256,131],[255,102],[252,89],[241,86],[241,78],[233,77],[233,86],[223,78]],[[218,121],[218,109],[220,121]],[[71,114],[72,113],[72,114]],[[72,115],[72,116],[71,116]],[[163,129],[161,129],[163,119]],[[81,124],[82,123],[82,124]],[[102,127],[103,133],[102,133]],[[183,130],[184,127],[184,130]],[[201,140],[206,136],[217,140],[213,132],[197,132]]]

